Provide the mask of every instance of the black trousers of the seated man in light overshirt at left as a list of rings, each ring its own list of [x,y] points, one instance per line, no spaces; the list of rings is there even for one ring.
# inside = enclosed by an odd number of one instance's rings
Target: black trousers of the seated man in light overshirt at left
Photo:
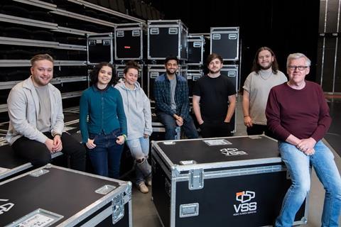
[[[44,133],[48,138],[53,139],[50,132]],[[74,170],[85,171],[85,148],[82,144],[78,143],[72,135],[63,133],[60,137],[62,140],[63,150],[62,153],[70,155],[70,165]],[[32,165],[40,167],[51,162],[50,150],[44,143],[36,140],[30,140],[26,137],[18,138],[13,144],[12,148],[14,153],[22,157]]]

